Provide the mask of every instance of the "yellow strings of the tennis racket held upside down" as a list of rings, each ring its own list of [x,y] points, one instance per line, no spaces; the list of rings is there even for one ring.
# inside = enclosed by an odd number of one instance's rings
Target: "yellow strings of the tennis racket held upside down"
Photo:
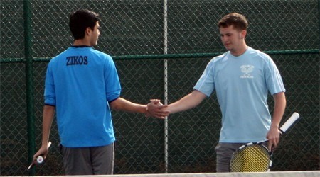
[[[266,147],[259,144],[238,149],[230,161],[232,172],[267,171],[270,164],[270,155]]]

